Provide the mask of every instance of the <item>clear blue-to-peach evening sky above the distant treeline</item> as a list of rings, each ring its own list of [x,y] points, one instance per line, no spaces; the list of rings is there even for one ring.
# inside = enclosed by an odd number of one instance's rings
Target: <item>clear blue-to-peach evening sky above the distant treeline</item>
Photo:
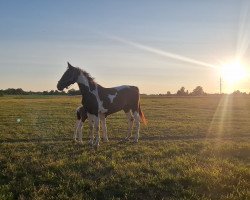
[[[222,64],[238,58],[250,73],[249,10],[248,0],[1,1],[0,89],[55,90],[70,62],[104,87],[218,93]],[[250,92],[248,74],[222,78],[223,92]]]

